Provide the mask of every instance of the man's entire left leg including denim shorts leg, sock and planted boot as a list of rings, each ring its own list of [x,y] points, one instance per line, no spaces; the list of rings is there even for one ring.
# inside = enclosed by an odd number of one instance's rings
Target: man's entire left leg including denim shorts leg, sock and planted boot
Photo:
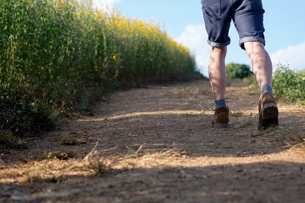
[[[229,108],[225,100],[227,71],[225,58],[230,44],[229,28],[232,20],[232,2],[220,0],[201,0],[203,18],[211,46],[209,76],[214,94],[216,110],[212,120],[214,128],[229,127]],[[218,48],[220,47],[220,48]]]

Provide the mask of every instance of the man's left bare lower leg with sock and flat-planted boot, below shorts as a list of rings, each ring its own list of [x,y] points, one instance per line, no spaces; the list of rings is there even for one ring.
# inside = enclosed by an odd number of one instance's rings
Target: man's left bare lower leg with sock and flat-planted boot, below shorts
[[[225,65],[226,54],[227,47],[211,48],[209,76],[216,104],[216,110],[212,120],[212,126],[214,128],[229,127],[229,109],[225,99],[227,84],[227,71]]]

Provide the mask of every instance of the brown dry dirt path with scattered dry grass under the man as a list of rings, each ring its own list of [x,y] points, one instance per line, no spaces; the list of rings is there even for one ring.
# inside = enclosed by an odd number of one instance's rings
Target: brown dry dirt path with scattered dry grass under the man
[[[0,202],[304,203],[305,147],[295,144],[305,109],[279,102],[288,128],[258,132],[258,95],[227,90],[229,129],[210,127],[207,81],[113,93],[95,116],[1,149]]]

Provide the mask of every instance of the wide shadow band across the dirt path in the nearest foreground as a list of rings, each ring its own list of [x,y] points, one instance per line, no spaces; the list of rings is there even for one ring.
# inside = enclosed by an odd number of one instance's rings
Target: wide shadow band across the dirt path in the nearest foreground
[[[304,164],[289,162],[133,168],[99,178],[72,175],[58,183],[0,184],[0,200],[6,203],[303,203],[304,169]],[[5,193],[11,196],[4,197]]]

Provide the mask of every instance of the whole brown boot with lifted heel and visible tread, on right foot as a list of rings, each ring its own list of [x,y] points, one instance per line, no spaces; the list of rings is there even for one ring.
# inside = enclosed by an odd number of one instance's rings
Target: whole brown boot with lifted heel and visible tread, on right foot
[[[279,125],[279,110],[273,96],[264,92],[258,103],[258,130],[268,129]]]

